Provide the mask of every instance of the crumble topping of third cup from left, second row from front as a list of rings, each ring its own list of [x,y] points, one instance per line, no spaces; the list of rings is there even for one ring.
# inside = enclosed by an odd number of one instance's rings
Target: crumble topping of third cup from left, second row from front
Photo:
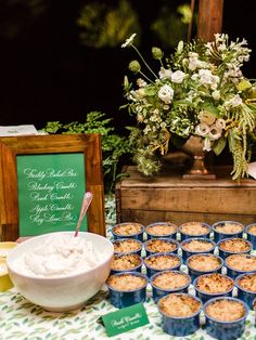
[[[233,287],[233,280],[218,273],[199,276],[196,288],[204,292],[221,293],[229,291]]]

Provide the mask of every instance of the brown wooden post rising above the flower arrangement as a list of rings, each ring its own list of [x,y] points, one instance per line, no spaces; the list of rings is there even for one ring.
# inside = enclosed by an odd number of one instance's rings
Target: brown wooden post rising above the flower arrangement
[[[221,32],[223,0],[200,0],[197,38],[212,41],[215,34]]]

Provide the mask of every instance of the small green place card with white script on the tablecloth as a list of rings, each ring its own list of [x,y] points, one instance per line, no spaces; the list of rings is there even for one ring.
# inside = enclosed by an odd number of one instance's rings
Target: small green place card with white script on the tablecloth
[[[142,303],[105,314],[101,317],[108,337],[149,324],[145,308]]]

